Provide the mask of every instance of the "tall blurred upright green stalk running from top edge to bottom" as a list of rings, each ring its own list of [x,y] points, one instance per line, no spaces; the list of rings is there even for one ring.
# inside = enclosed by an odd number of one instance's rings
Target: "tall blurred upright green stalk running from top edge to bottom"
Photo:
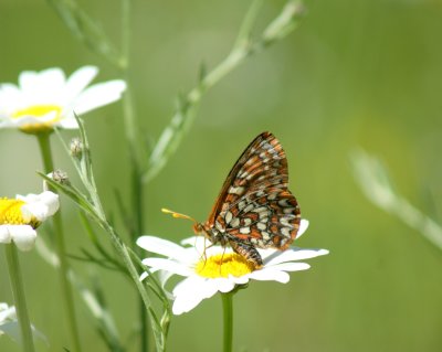
[[[135,243],[136,237],[143,235],[144,233],[144,183],[143,183],[143,172],[140,171],[141,157],[139,156],[137,148],[137,126],[136,116],[134,113],[131,86],[129,84],[129,63],[130,63],[130,34],[131,34],[131,0],[122,1],[122,53],[123,53],[123,75],[126,81],[126,93],[123,99],[124,107],[124,119],[125,119],[125,130],[126,139],[129,146],[130,164],[131,164],[131,206],[133,214],[135,215],[135,231],[131,234],[131,241]],[[138,248],[140,249],[140,248]],[[140,351],[149,351],[149,339],[148,339],[148,320],[147,310],[143,298],[138,299],[139,306],[139,322],[140,322]]]

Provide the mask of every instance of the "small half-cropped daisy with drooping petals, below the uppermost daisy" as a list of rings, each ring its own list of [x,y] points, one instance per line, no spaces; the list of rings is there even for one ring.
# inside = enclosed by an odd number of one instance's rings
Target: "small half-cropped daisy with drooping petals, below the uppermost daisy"
[[[35,228],[57,210],[59,195],[50,191],[0,199],[0,243],[14,242],[21,250],[32,249]]]

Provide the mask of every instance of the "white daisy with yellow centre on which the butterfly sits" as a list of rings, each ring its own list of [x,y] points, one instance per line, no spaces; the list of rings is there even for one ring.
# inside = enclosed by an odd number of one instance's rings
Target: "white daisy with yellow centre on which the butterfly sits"
[[[308,227],[308,221],[302,220],[298,236]],[[188,312],[197,307],[203,299],[220,292],[229,292],[236,285],[248,284],[249,280],[275,280],[286,284],[290,271],[306,270],[309,265],[295,263],[328,254],[326,249],[303,249],[291,247],[286,250],[274,248],[260,249],[263,266],[255,268],[244,257],[231,248],[221,246],[207,246],[201,236],[192,236],[181,242],[179,246],[167,239],[154,236],[141,236],[137,245],[141,248],[165,257],[149,257],[143,263],[149,267],[150,273],[161,270],[162,284],[173,274],[186,277],[172,290],[175,314]],[[140,279],[147,277],[144,273]]]

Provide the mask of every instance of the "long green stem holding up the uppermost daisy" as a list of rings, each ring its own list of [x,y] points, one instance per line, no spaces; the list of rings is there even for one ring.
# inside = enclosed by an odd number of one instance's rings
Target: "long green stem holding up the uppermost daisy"
[[[44,172],[45,173],[52,172],[54,170],[54,164],[52,160],[50,134],[39,134],[36,137],[39,140],[40,152],[43,159]],[[52,191],[54,192],[55,190]],[[69,280],[70,267],[67,264],[66,246],[64,242],[64,232],[63,232],[63,223],[61,214],[62,213],[60,211],[56,212],[52,217],[52,221],[54,225],[54,232],[56,235],[55,249],[60,259],[59,273],[64,297],[63,299],[64,311],[66,313],[67,326],[71,333],[71,340],[74,346],[74,351],[81,352],[78,328],[75,318],[74,298],[72,294],[71,281]]]

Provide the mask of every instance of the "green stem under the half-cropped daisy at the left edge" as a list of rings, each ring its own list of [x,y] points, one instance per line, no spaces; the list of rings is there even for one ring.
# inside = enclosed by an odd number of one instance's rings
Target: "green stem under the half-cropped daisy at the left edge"
[[[23,351],[34,352],[34,342],[32,340],[31,322],[29,321],[27,300],[24,297],[23,280],[20,271],[19,256],[13,243],[4,245],[9,277],[11,280],[12,295],[15,302],[15,311],[19,319],[21,335],[23,339]]]

